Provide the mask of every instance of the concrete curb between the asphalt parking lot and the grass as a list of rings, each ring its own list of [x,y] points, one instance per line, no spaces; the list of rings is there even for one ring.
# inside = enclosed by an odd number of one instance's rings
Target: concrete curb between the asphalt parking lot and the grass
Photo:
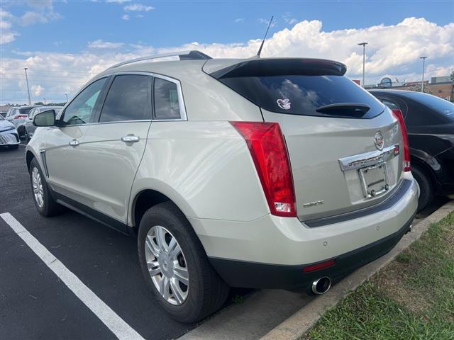
[[[279,324],[279,326],[275,327],[275,329],[272,329],[265,334],[265,336],[262,336],[260,340],[299,339],[320,319],[324,312],[336,306],[345,295],[358,288],[365,280],[394,260],[401,251],[415,242],[416,239],[419,239],[432,223],[442,220],[443,217],[447,216],[451,211],[454,211],[454,201],[445,203],[441,208],[438,208],[438,210],[412,227],[411,232],[404,235],[400,242],[394,246],[388,254],[368,263],[366,266],[359,268],[357,271],[341,280],[341,282],[333,286],[328,293],[309,302],[306,306],[302,307],[301,310],[293,314],[292,317],[289,317]]]

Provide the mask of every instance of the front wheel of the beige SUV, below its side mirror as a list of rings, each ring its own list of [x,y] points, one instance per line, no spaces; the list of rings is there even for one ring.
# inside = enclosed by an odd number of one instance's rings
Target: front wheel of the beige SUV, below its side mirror
[[[38,177],[35,174],[35,171],[38,171],[39,181]],[[33,179],[34,176],[35,181]],[[35,203],[35,207],[36,209],[38,209],[40,215],[50,217],[57,215],[63,210],[62,205],[55,202],[54,198],[52,197],[52,191],[50,191],[48,183],[46,183],[45,181],[43,171],[41,171],[38,161],[36,161],[35,158],[33,158],[30,163],[30,182],[33,202]],[[38,191],[38,193],[42,194],[42,199],[38,198],[38,195],[35,193],[35,191]]]

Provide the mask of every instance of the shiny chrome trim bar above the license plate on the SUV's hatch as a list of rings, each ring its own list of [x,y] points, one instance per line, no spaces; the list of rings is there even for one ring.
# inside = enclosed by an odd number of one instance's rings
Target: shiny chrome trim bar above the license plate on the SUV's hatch
[[[374,166],[379,163],[387,162],[389,159],[399,155],[399,145],[392,145],[384,148],[382,151],[366,152],[364,154],[355,154],[353,156],[339,159],[339,165],[342,171],[361,169],[367,166]]]

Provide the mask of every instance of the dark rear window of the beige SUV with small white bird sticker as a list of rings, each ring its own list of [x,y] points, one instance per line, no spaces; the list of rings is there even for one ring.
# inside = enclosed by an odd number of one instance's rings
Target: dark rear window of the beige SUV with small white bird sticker
[[[374,96],[347,77],[338,75],[226,77],[218,80],[261,108],[275,113],[373,118],[384,110]],[[348,105],[336,105],[341,103]]]

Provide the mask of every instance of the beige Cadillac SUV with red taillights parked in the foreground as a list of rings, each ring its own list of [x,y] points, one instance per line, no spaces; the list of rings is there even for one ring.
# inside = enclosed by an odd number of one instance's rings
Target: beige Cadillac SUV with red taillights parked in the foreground
[[[36,114],[50,128],[26,147],[38,212],[137,234],[172,317],[206,317],[229,286],[326,293],[409,230],[403,121],[344,64],[177,55],[106,69]]]

